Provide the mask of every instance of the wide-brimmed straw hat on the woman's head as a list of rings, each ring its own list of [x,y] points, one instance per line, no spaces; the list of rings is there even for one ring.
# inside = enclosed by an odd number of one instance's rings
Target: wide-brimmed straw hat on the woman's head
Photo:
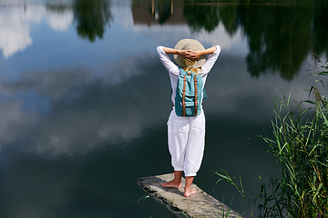
[[[204,46],[201,45],[200,42],[197,41],[196,39],[181,39],[177,43],[177,45],[175,45],[174,48],[178,49],[178,50],[191,49],[193,51],[204,51],[205,50]],[[179,64],[182,67],[186,66],[182,56],[180,56],[178,54],[174,54],[174,60],[176,61],[177,64]],[[206,54],[201,55],[195,61],[196,62],[195,62],[195,64],[193,64],[192,68],[198,68],[198,67],[202,66],[202,64],[205,64],[205,62],[206,62]]]

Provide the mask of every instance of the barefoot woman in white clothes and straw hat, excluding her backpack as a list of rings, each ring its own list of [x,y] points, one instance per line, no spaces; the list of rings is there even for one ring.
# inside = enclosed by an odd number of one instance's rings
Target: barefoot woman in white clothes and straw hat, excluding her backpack
[[[172,87],[171,101],[174,104],[179,67],[185,71],[191,70],[196,74],[200,74],[205,85],[207,75],[220,54],[220,45],[205,49],[197,40],[182,39],[174,49],[158,46],[157,52],[161,63],[169,72]],[[179,66],[169,59],[168,54],[174,54],[174,59]],[[207,54],[210,55],[206,60]],[[202,107],[199,115],[183,117],[175,113],[173,106],[168,121],[168,143],[171,163],[174,168],[174,179],[168,183],[161,183],[161,185],[163,187],[180,188],[182,173],[185,173],[184,196],[189,197],[191,194],[196,193],[195,189],[191,189],[191,183],[200,169],[204,152],[205,115]]]

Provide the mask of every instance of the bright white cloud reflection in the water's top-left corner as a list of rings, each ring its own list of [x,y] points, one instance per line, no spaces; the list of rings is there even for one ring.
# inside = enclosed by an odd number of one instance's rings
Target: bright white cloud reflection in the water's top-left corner
[[[45,5],[0,7],[0,48],[5,59],[33,45],[31,29],[46,22],[54,31],[67,31],[72,24],[73,12],[46,10]]]

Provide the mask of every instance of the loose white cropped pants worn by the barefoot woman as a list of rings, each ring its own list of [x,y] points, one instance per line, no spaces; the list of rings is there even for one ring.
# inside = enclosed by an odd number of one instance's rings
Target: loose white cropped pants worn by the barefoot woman
[[[175,171],[185,176],[196,176],[205,145],[205,115],[181,117],[174,108],[169,114],[168,141],[171,163]]]

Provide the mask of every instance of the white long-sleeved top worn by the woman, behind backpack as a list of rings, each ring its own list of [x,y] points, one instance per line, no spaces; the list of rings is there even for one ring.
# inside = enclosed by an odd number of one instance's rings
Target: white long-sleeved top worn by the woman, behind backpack
[[[219,57],[220,54],[220,45],[215,45],[217,47],[216,51],[213,54],[208,55],[208,59],[206,60],[205,64],[201,66],[201,76],[203,78],[204,84],[206,83],[206,78],[207,75],[210,73],[210,69],[213,67],[215,64],[216,60]],[[178,83],[178,78],[179,78],[179,66],[174,64],[170,59],[168,54],[166,54],[163,51],[163,46],[158,46],[157,47],[157,53],[159,54],[159,59],[161,63],[165,66],[165,68],[169,72],[169,79],[172,87],[172,96],[171,96],[171,101],[174,104],[175,102],[175,96],[176,96],[176,89],[177,89],[177,83]],[[203,86],[204,88],[204,86]],[[203,95],[201,95],[201,98]],[[202,102],[202,99],[201,99]]]

